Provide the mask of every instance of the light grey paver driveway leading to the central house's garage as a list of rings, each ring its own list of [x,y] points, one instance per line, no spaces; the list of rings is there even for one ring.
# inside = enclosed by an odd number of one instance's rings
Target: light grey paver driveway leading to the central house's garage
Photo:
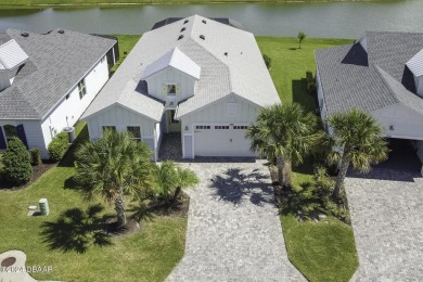
[[[167,281],[306,281],[287,259],[264,162],[181,165],[202,183],[188,191],[185,254]]]

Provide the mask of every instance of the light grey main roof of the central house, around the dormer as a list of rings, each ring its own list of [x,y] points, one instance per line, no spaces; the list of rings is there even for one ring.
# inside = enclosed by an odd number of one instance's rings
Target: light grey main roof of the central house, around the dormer
[[[184,24],[185,20],[188,23]],[[182,27],[185,30],[181,31]],[[181,34],[184,37],[178,40]],[[205,39],[200,38],[201,35]],[[177,118],[232,93],[259,106],[280,103],[254,35],[193,15],[145,33],[82,118],[113,103],[123,103],[154,120],[161,120],[163,103],[148,94],[140,95],[136,86],[149,65],[175,48],[201,67],[195,94],[179,104]],[[139,100],[143,100],[143,103]]]

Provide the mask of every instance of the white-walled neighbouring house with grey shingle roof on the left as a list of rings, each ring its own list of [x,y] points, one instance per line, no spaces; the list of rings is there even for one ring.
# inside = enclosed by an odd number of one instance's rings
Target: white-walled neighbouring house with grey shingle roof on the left
[[[0,34],[0,150],[17,137],[47,158],[52,138],[79,119],[107,81],[115,46],[63,29]]]

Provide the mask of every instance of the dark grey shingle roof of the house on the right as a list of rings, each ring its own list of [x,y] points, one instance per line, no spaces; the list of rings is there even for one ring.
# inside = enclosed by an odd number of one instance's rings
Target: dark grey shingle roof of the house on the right
[[[369,53],[360,43],[315,52],[328,114],[352,107],[373,112],[397,103],[419,106],[422,99],[410,91],[406,63],[423,48],[423,34],[366,36]]]

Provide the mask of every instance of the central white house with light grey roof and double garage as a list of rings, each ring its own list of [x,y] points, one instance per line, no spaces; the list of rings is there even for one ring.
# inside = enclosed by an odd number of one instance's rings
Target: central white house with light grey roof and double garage
[[[145,33],[82,115],[90,138],[127,130],[157,159],[163,133],[180,132],[184,158],[254,156],[245,130],[280,99],[254,35],[220,22],[193,15]]]

